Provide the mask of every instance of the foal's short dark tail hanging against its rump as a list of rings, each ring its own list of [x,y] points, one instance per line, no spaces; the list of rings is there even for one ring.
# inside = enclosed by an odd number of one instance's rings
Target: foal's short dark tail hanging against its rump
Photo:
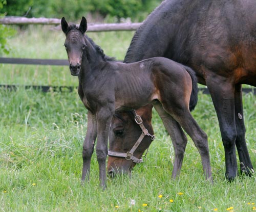
[[[191,91],[191,96],[190,96],[190,101],[189,101],[189,110],[193,111],[197,105],[198,101],[198,86],[197,86],[197,76],[196,73],[193,69],[184,66],[184,68],[187,70],[189,75],[191,76],[192,80],[192,91]]]

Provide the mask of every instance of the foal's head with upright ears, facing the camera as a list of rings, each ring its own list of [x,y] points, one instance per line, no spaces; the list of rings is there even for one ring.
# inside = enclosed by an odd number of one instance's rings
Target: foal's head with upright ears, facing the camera
[[[82,17],[80,25],[77,28],[75,24],[68,24],[63,17],[61,19],[61,29],[66,35],[64,46],[67,50],[71,74],[77,76],[81,69],[82,55],[86,49],[84,33],[87,31],[87,20]]]

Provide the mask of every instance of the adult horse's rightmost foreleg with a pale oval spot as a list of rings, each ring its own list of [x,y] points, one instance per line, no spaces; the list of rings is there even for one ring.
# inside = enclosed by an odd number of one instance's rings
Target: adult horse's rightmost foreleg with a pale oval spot
[[[253,167],[245,142],[245,125],[242,101],[242,86],[237,85],[234,92],[234,117],[236,118],[237,139],[236,146],[238,149],[241,173],[250,174]]]

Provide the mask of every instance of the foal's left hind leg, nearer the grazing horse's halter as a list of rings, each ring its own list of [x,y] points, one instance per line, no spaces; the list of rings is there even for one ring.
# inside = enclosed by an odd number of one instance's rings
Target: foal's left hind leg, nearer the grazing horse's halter
[[[187,137],[185,136],[180,124],[172,116],[164,111],[162,104],[159,101],[153,101],[152,104],[154,105],[154,108],[162,119],[164,127],[168,131],[168,134],[173,142],[175,158],[172,178],[175,179],[176,176],[179,175],[181,170],[184,152],[187,144]]]

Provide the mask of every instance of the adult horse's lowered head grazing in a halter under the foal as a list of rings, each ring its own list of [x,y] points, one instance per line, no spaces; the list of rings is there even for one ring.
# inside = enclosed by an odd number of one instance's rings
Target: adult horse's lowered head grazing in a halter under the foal
[[[143,125],[151,135],[154,133],[151,125],[152,105],[148,104],[136,113],[141,116]],[[136,141],[142,134],[140,126],[135,122],[132,112],[117,112],[113,117],[110,130],[110,151],[117,153],[127,153],[131,151]],[[142,157],[143,152],[150,146],[152,138],[145,136],[142,142],[134,151],[134,156],[138,159]],[[127,160],[123,156],[109,156],[108,173],[114,177],[115,174],[130,173],[136,165],[133,160]]]

